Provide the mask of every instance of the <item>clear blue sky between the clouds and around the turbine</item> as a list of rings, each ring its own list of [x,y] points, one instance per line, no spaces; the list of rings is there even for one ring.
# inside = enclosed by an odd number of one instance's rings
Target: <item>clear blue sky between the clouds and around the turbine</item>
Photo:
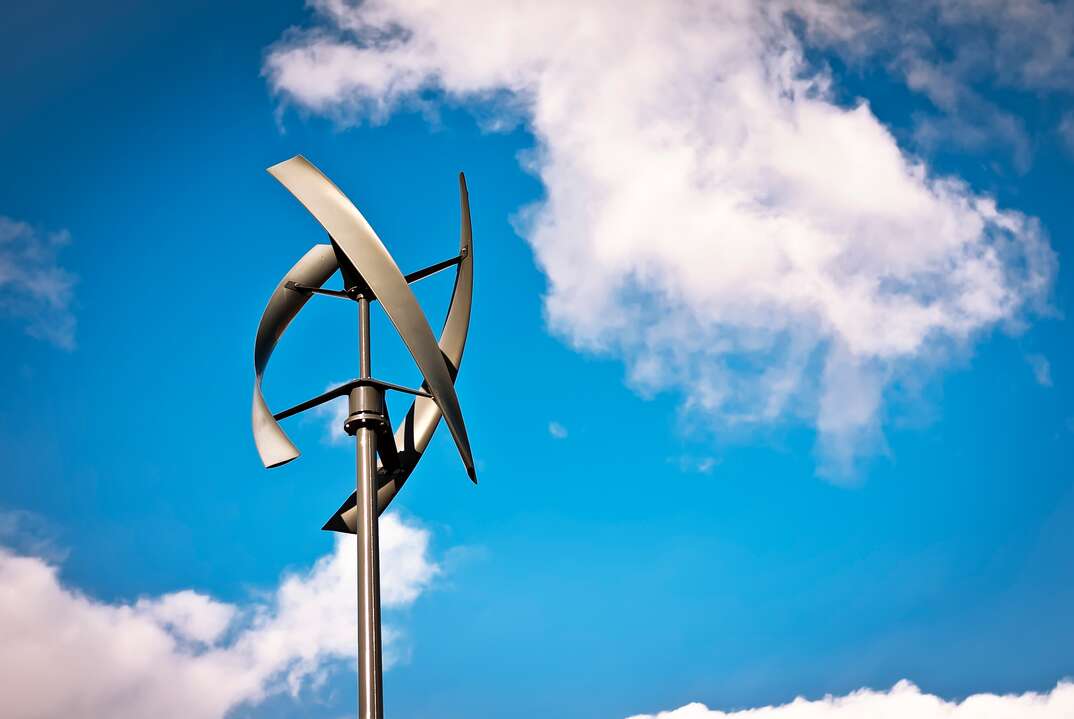
[[[460,394],[482,481],[438,433],[400,498],[438,552],[468,549],[400,619],[410,658],[386,679],[392,716],[622,717],[901,678],[958,696],[1074,674],[1074,164],[1056,139],[1042,135],[1024,175],[997,172],[1000,156],[931,158],[1041,218],[1058,312],[981,341],[886,426],[887,456],[838,486],[815,476],[812,429],[684,433],[680,397],[640,398],[620,362],[550,335],[545,278],[511,222],[542,192],[519,168],[524,127],[482,132],[450,106],[346,130],[281,112],[263,54],[304,9],[180,5],[38,2],[0,29],[0,214],[68,229],[61,263],[78,276],[73,351],[0,327],[0,506],[45,518],[70,550],[64,581],[106,601],[188,587],[241,601],[330,549],[319,527],[351,487],[351,452],[300,420],[303,458],[266,473],[249,436],[261,308],[322,241],[263,171],[301,153],[405,271],[452,251],[454,174],[470,184]],[[918,110],[883,76],[842,83],[897,131]],[[1028,127],[1054,111],[1027,105]],[[422,289],[432,317],[449,289]],[[353,374],[350,313],[313,303],[274,360],[275,404]],[[378,372],[415,382],[380,328]],[[1027,355],[1048,359],[1053,386]],[[681,456],[719,464],[683,471]],[[351,677],[333,687],[249,715],[349,710]]]

